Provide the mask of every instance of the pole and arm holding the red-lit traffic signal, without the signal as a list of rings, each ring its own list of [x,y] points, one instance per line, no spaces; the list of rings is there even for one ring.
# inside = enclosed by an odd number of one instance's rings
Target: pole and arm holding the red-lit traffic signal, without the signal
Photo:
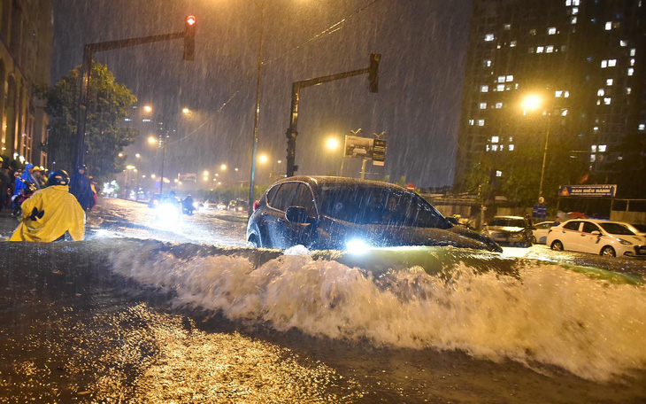
[[[83,165],[85,157],[85,133],[88,120],[88,93],[92,73],[92,58],[96,52],[111,51],[113,49],[130,48],[145,43],[158,43],[184,38],[186,32],[173,32],[172,34],[141,36],[138,38],[120,39],[103,43],[86,43],[83,48],[83,63],[81,64],[81,94],[79,95],[77,120],[76,120],[76,167]],[[74,170],[75,171],[75,170]]]

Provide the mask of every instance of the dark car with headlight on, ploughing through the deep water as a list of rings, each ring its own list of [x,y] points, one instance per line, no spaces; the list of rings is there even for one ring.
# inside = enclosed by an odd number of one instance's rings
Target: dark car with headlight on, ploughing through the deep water
[[[451,224],[416,193],[389,183],[294,176],[273,183],[257,205],[247,225],[247,241],[256,247],[344,250],[361,243],[502,251],[490,238]]]

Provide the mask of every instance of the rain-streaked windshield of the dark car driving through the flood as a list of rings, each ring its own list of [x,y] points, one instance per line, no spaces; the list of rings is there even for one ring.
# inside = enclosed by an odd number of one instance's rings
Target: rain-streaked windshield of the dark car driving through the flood
[[[359,184],[322,184],[320,212],[356,224],[450,229],[453,225],[412,192]]]

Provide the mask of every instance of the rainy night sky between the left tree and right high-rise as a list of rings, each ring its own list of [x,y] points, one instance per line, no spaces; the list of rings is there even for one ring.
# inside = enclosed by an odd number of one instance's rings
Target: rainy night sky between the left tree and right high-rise
[[[240,167],[239,179],[248,179],[260,4],[58,0],[52,82],[81,63],[83,43],[182,31],[184,18],[193,14],[194,62],[182,60],[181,40],[107,51],[95,59],[133,89],[139,105],[153,105],[157,120],[178,120],[169,143],[171,171],[201,172],[226,163]],[[420,187],[451,184],[470,13],[468,0],[265,0],[258,152],[272,163],[258,167],[257,182],[266,183],[270,172],[284,174],[292,82],[367,67],[376,52],[382,55],[378,94],[368,92],[365,76],[301,91],[297,174],[338,170],[341,151],[326,151],[325,139],[362,128],[364,136],[385,131],[388,141],[386,166],[369,164],[368,178],[390,175],[394,182],[405,175]],[[319,35],[343,19],[329,30],[334,32]],[[178,113],[184,106],[195,112],[190,118]],[[142,133],[128,154],[141,151],[153,167],[147,136]],[[358,159],[346,163],[346,174],[358,176],[360,165]]]

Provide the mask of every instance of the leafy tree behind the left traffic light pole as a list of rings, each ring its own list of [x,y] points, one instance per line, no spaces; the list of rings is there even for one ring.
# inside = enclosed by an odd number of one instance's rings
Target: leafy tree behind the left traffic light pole
[[[80,66],[61,78],[53,88],[38,89],[50,116],[48,150],[56,168],[73,171],[76,152],[76,125],[80,93]],[[120,172],[119,152],[135,140],[137,132],[121,128],[136,97],[125,85],[115,81],[105,65],[94,63],[88,92],[88,120],[85,163],[96,177]]]

